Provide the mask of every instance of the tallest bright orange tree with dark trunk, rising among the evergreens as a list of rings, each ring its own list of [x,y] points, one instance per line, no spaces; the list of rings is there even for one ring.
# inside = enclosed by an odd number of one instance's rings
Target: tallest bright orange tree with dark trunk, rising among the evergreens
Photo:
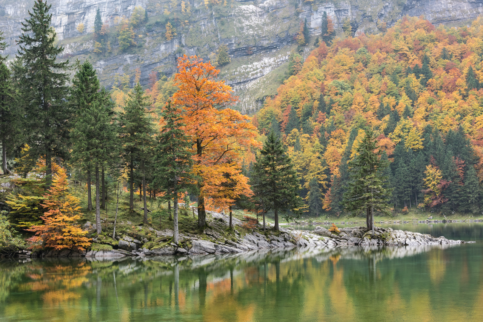
[[[256,127],[246,115],[230,109],[237,101],[233,90],[224,81],[216,81],[219,70],[197,56],[178,58],[174,75],[178,87],[172,103],[183,110],[184,130],[194,152],[194,171],[198,182],[198,226],[206,224],[206,182],[224,172],[208,170],[235,159],[239,151],[258,145],[254,139]],[[216,174],[215,174],[216,172]]]

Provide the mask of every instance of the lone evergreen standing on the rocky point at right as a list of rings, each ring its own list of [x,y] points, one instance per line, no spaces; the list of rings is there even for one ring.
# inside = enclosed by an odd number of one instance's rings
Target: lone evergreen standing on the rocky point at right
[[[378,156],[376,136],[372,130],[366,130],[364,138],[356,149],[357,155],[349,161],[351,182],[344,194],[343,204],[346,210],[365,213],[366,223],[374,235],[374,210],[388,214],[388,198],[391,191],[384,188],[387,177],[382,173],[388,163]]]

